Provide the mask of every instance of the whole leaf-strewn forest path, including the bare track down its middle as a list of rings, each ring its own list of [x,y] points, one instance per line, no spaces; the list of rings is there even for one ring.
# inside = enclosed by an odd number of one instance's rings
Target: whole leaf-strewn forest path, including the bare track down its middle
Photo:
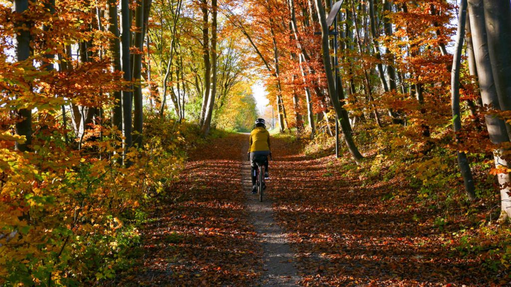
[[[452,251],[450,233],[431,224],[433,211],[410,197],[382,200],[399,182],[347,179],[341,161],[307,157],[286,137],[273,138],[259,204],[249,194],[247,141],[233,134],[191,153],[119,285],[500,285],[479,260]]]

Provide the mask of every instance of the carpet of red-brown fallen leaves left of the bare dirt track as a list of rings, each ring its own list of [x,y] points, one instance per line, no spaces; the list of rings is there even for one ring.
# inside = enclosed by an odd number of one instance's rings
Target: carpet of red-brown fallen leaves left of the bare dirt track
[[[145,227],[144,256],[123,286],[249,286],[262,266],[241,186],[244,135],[192,152]]]

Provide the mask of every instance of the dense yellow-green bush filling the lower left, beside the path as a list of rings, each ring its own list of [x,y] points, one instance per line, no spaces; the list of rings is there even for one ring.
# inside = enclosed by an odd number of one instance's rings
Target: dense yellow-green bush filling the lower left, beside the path
[[[128,268],[145,207],[184,162],[183,134],[197,138],[190,130],[150,114],[144,149],[129,150],[129,166],[119,163],[120,135],[108,127],[91,127],[82,150],[57,132],[36,138],[33,153],[0,138],[0,282],[93,284]]]

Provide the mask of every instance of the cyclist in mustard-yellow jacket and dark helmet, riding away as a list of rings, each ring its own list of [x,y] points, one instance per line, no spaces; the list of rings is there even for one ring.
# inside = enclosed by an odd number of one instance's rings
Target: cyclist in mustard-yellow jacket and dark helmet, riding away
[[[257,178],[255,177],[255,173],[258,169],[256,158],[264,157],[264,177],[268,178],[268,155],[271,155],[270,150],[270,133],[266,130],[265,121],[263,118],[258,118],[255,120],[255,127],[250,132],[250,140],[248,146],[248,153],[250,154],[250,165],[252,167],[251,176],[252,176],[252,194],[257,193],[257,185],[255,185],[255,181]]]

